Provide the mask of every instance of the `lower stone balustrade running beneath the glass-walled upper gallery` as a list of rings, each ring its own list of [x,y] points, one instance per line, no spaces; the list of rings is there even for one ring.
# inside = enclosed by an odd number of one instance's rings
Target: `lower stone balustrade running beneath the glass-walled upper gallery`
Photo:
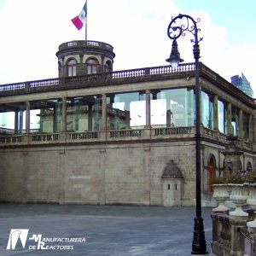
[[[24,131],[25,132],[25,131]],[[73,142],[101,142],[103,141],[120,141],[120,140],[164,140],[172,139],[193,139],[195,136],[195,126],[180,126],[180,127],[159,127],[145,129],[128,129],[128,130],[113,130],[113,131],[84,131],[84,132],[66,132],[66,133],[44,133],[32,130],[31,133],[15,134],[14,131],[2,131],[0,135],[0,147],[11,146],[12,144],[26,143],[73,143]],[[228,143],[227,136],[220,133],[201,127],[202,139],[210,138],[212,140]],[[239,144],[241,148],[251,149],[252,143],[242,142]]]

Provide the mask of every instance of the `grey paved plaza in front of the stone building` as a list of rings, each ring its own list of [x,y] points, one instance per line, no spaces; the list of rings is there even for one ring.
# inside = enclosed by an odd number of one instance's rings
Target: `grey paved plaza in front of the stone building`
[[[211,212],[203,208],[208,251]],[[194,217],[194,207],[0,204],[0,255],[186,256]]]

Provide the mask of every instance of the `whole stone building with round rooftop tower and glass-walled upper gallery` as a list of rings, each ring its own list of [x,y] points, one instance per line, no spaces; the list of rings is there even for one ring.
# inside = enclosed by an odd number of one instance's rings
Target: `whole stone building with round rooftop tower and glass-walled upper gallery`
[[[194,205],[195,65],[113,72],[113,47],[96,41],[56,55],[59,78],[0,85],[0,201]],[[236,166],[256,167],[256,110],[202,63],[200,86],[209,205],[237,151]]]

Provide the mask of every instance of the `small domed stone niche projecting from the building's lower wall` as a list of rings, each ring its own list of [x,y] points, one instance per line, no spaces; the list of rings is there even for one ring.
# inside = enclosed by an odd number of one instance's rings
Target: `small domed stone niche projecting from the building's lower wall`
[[[163,185],[164,207],[180,207],[182,204],[182,172],[177,165],[170,160],[166,163],[161,176]]]

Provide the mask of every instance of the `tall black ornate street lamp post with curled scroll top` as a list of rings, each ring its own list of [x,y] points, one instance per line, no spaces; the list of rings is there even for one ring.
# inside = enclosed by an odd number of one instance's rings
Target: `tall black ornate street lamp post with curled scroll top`
[[[184,19],[183,19],[184,18]],[[177,24],[177,21],[178,22]],[[184,21],[184,22],[183,22]],[[176,68],[183,59],[180,58],[177,50],[177,38],[185,36],[186,32],[193,34],[194,39],[191,42],[194,43],[193,54],[195,58],[195,202],[196,202],[196,216],[194,218],[194,236],[192,241],[192,254],[207,254],[207,243],[205,239],[205,231],[203,218],[201,217],[201,104],[200,104],[200,87],[199,87],[199,58],[200,58],[200,47],[199,42],[202,38],[198,38],[198,32],[200,29],[197,28],[196,21],[189,15],[177,15],[172,18],[171,23],[168,26],[167,35],[173,39],[172,52],[170,57],[166,60],[170,62],[172,67]],[[191,23],[192,22],[192,23]]]

